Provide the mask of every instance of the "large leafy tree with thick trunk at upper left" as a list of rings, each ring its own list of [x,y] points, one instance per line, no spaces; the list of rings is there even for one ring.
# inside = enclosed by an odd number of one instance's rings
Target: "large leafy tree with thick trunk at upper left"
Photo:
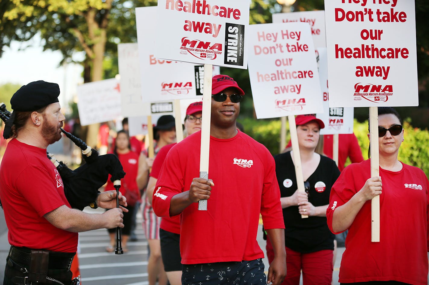
[[[136,42],[135,7],[154,5],[156,0],[12,0],[0,8],[0,45],[27,41],[39,33],[43,49],[60,50],[72,61],[83,51],[84,80],[103,79],[104,57],[112,60],[120,42]],[[0,46],[3,49],[2,46]],[[60,62],[62,63],[62,62]],[[103,66],[104,65],[104,66]],[[110,68],[109,71],[111,71]],[[111,74],[107,72],[107,75]],[[98,125],[88,127],[86,142],[95,146]]]

